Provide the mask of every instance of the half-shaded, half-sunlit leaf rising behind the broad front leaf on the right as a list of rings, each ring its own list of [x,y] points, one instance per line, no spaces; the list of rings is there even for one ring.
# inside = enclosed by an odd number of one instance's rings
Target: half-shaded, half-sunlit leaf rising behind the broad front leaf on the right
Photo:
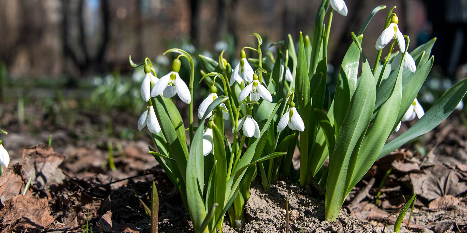
[[[357,37],[360,43],[362,38],[362,34]],[[340,66],[339,75],[337,77],[337,86],[334,95],[334,103],[336,106],[339,106],[339,108],[334,110],[335,127],[337,130],[340,129],[342,121],[344,121],[350,99],[352,99],[355,89],[357,88],[359,64],[360,49],[357,44],[352,42],[342,60],[342,65]]]

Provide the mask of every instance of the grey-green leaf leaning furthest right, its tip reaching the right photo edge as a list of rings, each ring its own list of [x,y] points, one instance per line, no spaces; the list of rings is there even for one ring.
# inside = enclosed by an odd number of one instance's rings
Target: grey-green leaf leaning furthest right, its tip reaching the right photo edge
[[[467,79],[463,79],[462,81],[454,84],[428,111],[426,111],[425,116],[419,119],[417,123],[399,135],[399,137],[396,137],[388,144],[385,144],[378,156],[378,159],[383,158],[409,140],[434,129],[444,121],[451,112],[453,112],[460,100],[465,96],[466,92]]]

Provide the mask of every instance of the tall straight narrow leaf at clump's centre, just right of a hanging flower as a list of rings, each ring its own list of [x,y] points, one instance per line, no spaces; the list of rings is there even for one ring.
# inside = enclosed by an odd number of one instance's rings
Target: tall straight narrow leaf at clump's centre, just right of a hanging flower
[[[300,133],[300,154],[305,155],[300,157],[300,164],[308,164],[308,140],[310,126],[310,80],[308,79],[308,67],[306,64],[305,48],[303,43],[303,35],[300,32],[298,41],[298,64],[297,64],[297,81],[296,81],[296,102],[297,111],[302,117],[305,125],[305,131]],[[304,169],[302,171],[302,168]],[[300,179],[306,179],[306,166],[300,168]],[[302,182],[302,181],[300,181]],[[304,184],[303,184],[304,185]]]

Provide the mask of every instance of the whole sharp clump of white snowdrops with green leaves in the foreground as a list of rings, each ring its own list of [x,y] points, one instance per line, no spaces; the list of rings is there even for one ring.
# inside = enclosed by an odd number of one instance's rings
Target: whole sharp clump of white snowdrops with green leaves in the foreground
[[[222,231],[226,212],[234,228],[242,226],[258,170],[266,189],[279,175],[300,185],[314,177],[325,188],[325,219],[333,221],[348,193],[377,159],[432,130],[454,110],[467,92],[467,79],[448,89],[426,113],[418,103],[417,93],[433,64],[435,39],[409,53],[410,40],[398,28],[395,7],[389,9],[378,40],[368,41],[378,50],[370,65],[361,48],[363,33],[385,8],[376,7],[360,32],[349,35],[354,42],[347,48],[337,72],[338,85],[327,104],[327,42],[333,12],[347,15],[343,0],[323,0],[311,39],[300,33],[298,50],[289,35],[288,40],[269,46],[276,48],[275,55],[264,55],[261,36],[251,34],[257,47],[242,48],[239,62],[231,65],[223,52],[217,60],[199,55],[202,70],[195,70],[190,54],[172,48],[164,55],[178,57],[171,72],[160,79],[149,58],[135,64],[130,57],[132,66],[144,66],[146,74],[141,94],[148,108],[138,127],[147,126],[152,133],[156,148],[150,153],[180,191],[196,232]],[[329,14],[327,26],[325,14]],[[381,58],[383,50],[387,55]],[[180,59],[190,65],[188,84],[179,75]],[[196,82],[205,82],[209,89],[197,111],[197,126],[193,93],[200,92],[193,89],[195,72],[202,74]],[[171,99],[175,95],[188,104],[188,127]],[[417,123],[387,142],[401,121],[415,117]],[[296,171],[292,157],[297,146],[300,168]]]

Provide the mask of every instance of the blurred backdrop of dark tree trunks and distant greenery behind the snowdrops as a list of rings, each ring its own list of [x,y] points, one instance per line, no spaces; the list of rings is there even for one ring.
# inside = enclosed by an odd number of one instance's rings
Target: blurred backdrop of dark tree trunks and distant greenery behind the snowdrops
[[[333,17],[328,82],[335,82],[332,67],[340,66],[352,42],[350,33],[358,32],[378,5],[388,8],[375,15],[364,33],[363,49],[370,61],[375,59],[375,41],[389,7],[397,6],[399,27],[411,39],[409,51],[438,38],[432,74],[419,93],[425,109],[466,76],[465,0],[345,1],[347,17],[337,13]],[[149,57],[159,76],[170,69],[173,59],[162,53],[175,47],[195,58],[203,54],[215,59],[225,49],[224,57],[234,65],[240,48],[256,47],[251,33],[262,35],[264,49],[288,34],[295,41],[300,31],[311,36],[320,2],[0,0],[0,127],[32,134],[60,128],[72,138],[104,134],[131,140],[146,137],[149,142],[149,133],[136,127],[146,104],[139,93],[144,74],[134,71],[128,55],[137,63]],[[96,117],[100,120],[90,120]],[[100,126],[77,131],[76,126],[88,123]]]

